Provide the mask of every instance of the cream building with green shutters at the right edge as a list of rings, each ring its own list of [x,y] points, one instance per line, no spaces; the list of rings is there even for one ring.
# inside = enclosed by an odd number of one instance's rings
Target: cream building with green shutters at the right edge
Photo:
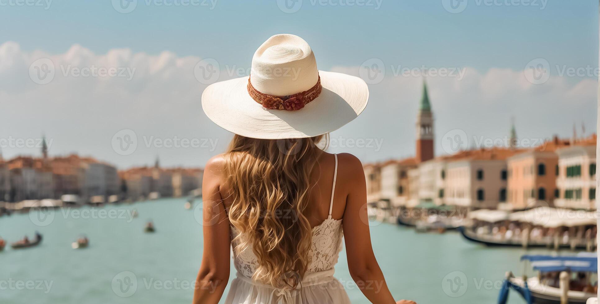
[[[559,148],[554,206],[596,209],[596,136]]]

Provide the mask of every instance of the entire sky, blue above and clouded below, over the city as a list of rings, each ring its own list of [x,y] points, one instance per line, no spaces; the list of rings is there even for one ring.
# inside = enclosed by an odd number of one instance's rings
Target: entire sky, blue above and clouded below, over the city
[[[53,0],[47,10],[10,5],[14,1],[22,0],[0,0],[0,106],[19,115],[3,111],[0,139],[46,133],[54,139],[51,155],[77,151],[121,167],[151,164],[156,156],[164,165],[203,165],[226,147],[230,134],[202,113],[206,85],[194,78],[194,65],[212,58],[221,69],[248,68],[256,48],[279,33],[304,38],[323,70],[359,75],[372,59],[386,66],[384,80],[369,86],[367,110],[332,133],[382,141],[379,148],[332,148],[364,162],[414,154],[422,77],[394,77],[393,66],[466,69],[462,80],[428,78],[437,155],[447,152],[440,141],[446,133],[460,129],[469,137],[502,138],[511,117],[518,135],[530,139],[570,136],[581,123],[589,135],[596,126],[596,75],[565,77],[557,70],[598,67],[598,2],[592,0],[463,0],[455,2],[466,4],[460,13],[445,9],[455,0],[296,0],[301,7],[295,13],[280,10],[283,0],[217,0],[214,7],[209,0],[197,0],[206,4],[200,6],[137,0],[130,13],[119,13],[110,0]],[[61,66],[138,69],[131,81],[57,76],[36,85],[28,69],[44,57]],[[540,58],[550,64],[550,78],[531,84],[524,68]],[[138,136],[208,138],[218,145],[140,147],[122,156],[110,147],[122,129]],[[2,153],[38,150],[5,147]]]

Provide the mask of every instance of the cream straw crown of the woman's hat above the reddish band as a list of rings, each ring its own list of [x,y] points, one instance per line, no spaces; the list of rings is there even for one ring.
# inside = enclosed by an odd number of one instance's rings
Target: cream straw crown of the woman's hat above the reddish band
[[[304,39],[278,34],[254,53],[250,83],[266,95],[287,96],[304,92],[319,80],[313,50]]]

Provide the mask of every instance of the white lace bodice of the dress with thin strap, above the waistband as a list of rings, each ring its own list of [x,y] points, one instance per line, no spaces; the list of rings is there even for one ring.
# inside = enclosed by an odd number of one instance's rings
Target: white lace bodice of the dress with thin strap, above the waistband
[[[341,251],[341,239],[343,236],[341,220],[331,218],[334,201],[335,180],[337,178],[337,155],[335,155],[334,183],[331,190],[331,203],[329,203],[329,217],[319,226],[313,227],[313,238],[308,251],[307,272],[320,272],[333,269],[337,263]],[[233,247],[233,262],[239,273],[247,278],[252,278],[258,267],[258,258],[254,254],[252,246],[238,249],[238,245],[245,241],[244,235],[240,235],[238,229],[231,226],[231,239]]]

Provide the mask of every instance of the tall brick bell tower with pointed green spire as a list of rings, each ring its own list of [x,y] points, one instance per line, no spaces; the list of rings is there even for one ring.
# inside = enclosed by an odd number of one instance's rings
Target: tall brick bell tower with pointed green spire
[[[416,160],[425,162],[433,159],[433,113],[427,94],[427,84],[423,80],[423,95],[416,117]]]

